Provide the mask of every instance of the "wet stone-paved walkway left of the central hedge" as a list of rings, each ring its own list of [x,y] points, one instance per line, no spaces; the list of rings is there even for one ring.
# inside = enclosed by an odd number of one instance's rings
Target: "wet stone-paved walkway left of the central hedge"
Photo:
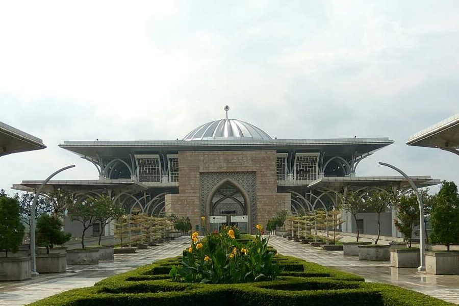
[[[67,266],[65,273],[40,274],[22,282],[0,282],[0,306],[20,306],[66,290],[90,287],[108,276],[179,256],[189,243],[189,237],[181,237],[134,254],[115,254],[113,261],[101,261],[98,265]]]

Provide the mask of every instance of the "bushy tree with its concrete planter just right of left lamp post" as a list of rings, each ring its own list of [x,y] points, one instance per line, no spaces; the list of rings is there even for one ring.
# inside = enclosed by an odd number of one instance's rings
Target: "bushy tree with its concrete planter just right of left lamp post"
[[[62,221],[47,214],[42,214],[37,219],[37,245],[45,247],[45,252],[37,252],[36,268],[39,273],[59,273],[67,270],[67,253],[65,248],[50,252],[55,245],[62,245],[70,240],[71,234],[61,231]]]

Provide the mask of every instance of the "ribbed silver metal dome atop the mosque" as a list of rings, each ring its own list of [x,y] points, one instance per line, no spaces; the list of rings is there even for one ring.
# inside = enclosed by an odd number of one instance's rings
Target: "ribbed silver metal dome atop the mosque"
[[[237,119],[220,119],[196,127],[182,140],[270,140],[257,126]]]

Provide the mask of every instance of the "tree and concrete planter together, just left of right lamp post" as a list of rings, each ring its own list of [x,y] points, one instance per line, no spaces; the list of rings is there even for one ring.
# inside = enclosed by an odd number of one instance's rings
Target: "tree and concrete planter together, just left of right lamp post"
[[[418,199],[414,193],[400,197],[397,204],[397,219],[395,227],[403,234],[406,244],[404,247],[394,247],[391,244],[391,266],[397,268],[416,268],[421,264],[419,248],[412,248],[413,228],[419,224]]]

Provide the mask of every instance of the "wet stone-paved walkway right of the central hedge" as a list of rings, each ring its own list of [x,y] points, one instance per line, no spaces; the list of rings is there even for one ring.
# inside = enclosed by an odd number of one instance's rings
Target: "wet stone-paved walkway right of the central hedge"
[[[284,255],[360,275],[367,282],[397,285],[459,304],[459,275],[434,275],[418,272],[416,268],[393,268],[388,261],[361,261],[356,256],[343,256],[343,251],[326,251],[278,236],[271,236],[269,244]]]

